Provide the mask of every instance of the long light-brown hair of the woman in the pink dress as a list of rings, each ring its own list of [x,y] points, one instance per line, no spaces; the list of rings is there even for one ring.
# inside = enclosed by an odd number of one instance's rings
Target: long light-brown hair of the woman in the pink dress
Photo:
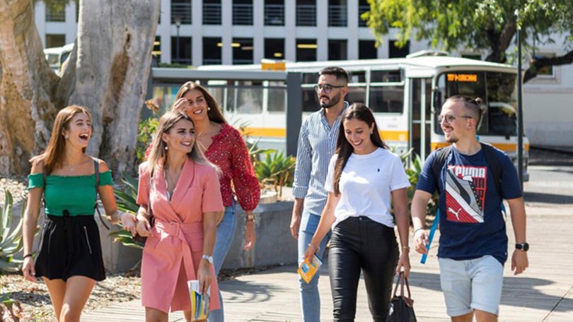
[[[167,144],[161,139],[161,135],[163,133],[169,133],[175,123],[182,119],[186,119],[187,121],[190,121],[191,124],[193,124],[192,119],[190,119],[187,114],[181,111],[167,112],[166,114],[163,114],[161,119],[159,119],[159,127],[151,141],[151,151],[149,152],[149,157],[147,157],[147,171],[149,173],[151,173],[156,166],[163,167],[166,161],[168,153],[166,150]],[[197,141],[193,143],[193,148],[190,153],[187,153],[187,157],[199,164],[212,165],[215,167],[211,162],[209,162],[209,160],[207,160],[207,157],[205,157],[205,155],[201,152],[201,149],[197,147]]]

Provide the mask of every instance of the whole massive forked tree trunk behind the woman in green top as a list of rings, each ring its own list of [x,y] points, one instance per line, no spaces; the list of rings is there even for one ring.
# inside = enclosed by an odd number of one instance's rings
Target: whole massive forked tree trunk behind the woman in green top
[[[30,0],[0,0],[0,176],[26,174],[57,111],[87,107],[88,153],[114,173],[133,169],[159,0],[81,1],[78,37],[60,79],[50,69]]]

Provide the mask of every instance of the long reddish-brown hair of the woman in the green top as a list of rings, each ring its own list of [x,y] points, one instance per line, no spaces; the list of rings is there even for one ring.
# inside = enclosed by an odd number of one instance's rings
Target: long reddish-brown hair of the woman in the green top
[[[54,120],[54,126],[52,126],[50,143],[48,143],[44,153],[30,159],[32,164],[41,162],[46,174],[50,174],[54,169],[62,166],[62,157],[64,155],[64,148],[66,145],[66,139],[64,138],[64,134],[62,132],[64,129],[69,130],[69,123],[71,119],[73,119],[76,114],[80,113],[86,114],[89,121],[91,122],[91,114],[88,112],[86,107],[70,105],[69,107],[64,107],[58,112],[56,119]],[[86,148],[82,148],[81,150],[83,153],[86,153]]]

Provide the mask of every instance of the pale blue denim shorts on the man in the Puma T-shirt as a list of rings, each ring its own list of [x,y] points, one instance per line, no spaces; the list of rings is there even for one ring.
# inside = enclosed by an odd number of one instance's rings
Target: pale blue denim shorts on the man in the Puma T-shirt
[[[504,267],[493,256],[455,261],[439,258],[441,290],[448,316],[473,310],[499,314]]]

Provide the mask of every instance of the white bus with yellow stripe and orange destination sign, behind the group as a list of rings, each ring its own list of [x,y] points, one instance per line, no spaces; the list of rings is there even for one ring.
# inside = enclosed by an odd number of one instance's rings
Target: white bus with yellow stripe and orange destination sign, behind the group
[[[514,66],[463,59],[444,54],[412,54],[403,59],[364,59],[287,63],[288,73],[301,73],[302,119],[318,110],[314,85],[318,71],[340,66],[351,73],[349,102],[363,102],[376,117],[381,136],[400,150],[414,149],[422,160],[447,143],[438,124],[444,100],[461,94],[481,97],[488,111],[478,131],[480,140],[504,150],[516,162],[517,71]],[[199,71],[260,71],[260,65],[202,66]],[[269,72],[267,72],[269,73]],[[187,79],[195,80],[194,78]],[[202,79],[231,119],[245,121],[247,131],[260,143],[274,148],[286,141],[286,92],[284,82],[209,81]],[[180,85],[180,84],[178,84]],[[177,87],[178,88],[178,87]],[[171,89],[173,95],[177,92]],[[523,138],[524,181],[527,181],[529,143]]]

